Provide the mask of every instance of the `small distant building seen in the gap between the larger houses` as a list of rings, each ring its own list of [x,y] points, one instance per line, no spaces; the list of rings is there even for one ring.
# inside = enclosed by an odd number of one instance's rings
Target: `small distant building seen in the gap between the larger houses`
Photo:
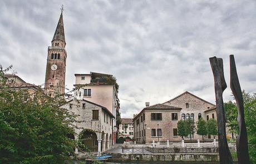
[[[119,125],[119,136],[122,136],[124,138],[130,137],[131,139],[134,138],[134,123],[132,121],[132,118],[122,118],[121,124]],[[125,130],[125,125],[128,127]]]

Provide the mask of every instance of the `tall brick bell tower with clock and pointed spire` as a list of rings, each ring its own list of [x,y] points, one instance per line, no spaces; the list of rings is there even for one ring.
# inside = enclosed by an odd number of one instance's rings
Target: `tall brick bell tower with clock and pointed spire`
[[[66,41],[62,16],[61,16],[52,38],[52,44],[48,47],[46,76],[45,76],[45,93],[50,97],[65,93],[65,74],[66,74]]]

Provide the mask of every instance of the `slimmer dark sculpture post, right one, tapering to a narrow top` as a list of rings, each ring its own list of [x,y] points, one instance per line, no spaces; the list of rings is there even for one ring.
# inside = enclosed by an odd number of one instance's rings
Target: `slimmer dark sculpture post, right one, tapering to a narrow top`
[[[235,67],[234,55],[229,56],[230,59],[230,88],[237,102],[238,109],[238,125],[239,125],[239,135],[237,137],[237,156],[238,163],[250,163],[249,153],[248,153],[248,138],[247,131],[244,121],[244,102],[243,94],[241,91],[237,68]]]

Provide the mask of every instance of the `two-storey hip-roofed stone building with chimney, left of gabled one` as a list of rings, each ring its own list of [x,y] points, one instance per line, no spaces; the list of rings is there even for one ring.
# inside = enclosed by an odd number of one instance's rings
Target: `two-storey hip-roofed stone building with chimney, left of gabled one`
[[[149,103],[146,103],[146,107],[134,116],[134,141],[180,141],[177,130],[180,110],[180,107],[163,104],[149,106]]]

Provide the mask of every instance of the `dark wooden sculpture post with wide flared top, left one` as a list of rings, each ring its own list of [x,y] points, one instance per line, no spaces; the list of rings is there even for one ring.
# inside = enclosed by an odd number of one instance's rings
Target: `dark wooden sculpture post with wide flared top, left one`
[[[223,91],[227,88],[224,78],[223,60],[221,58],[210,58],[211,69],[214,76],[214,88],[216,98],[216,112],[218,118],[218,139],[219,139],[219,158],[222,164],[233,164],[233,159],[229,151],[226,137],[226,119],[223,104]]]

